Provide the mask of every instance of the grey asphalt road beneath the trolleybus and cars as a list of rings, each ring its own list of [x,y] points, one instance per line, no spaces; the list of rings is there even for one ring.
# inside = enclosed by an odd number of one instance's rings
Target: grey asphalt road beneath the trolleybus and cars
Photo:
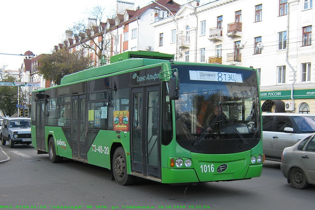
[[[292,188],[279,162],[266,161],[261,177],[250,180],[171,186],[139,179],[121,186],[108,169],[50,163],[31,145],[2,148],[11,159],[0,164],[0,208],[315,209],[315,186]]]

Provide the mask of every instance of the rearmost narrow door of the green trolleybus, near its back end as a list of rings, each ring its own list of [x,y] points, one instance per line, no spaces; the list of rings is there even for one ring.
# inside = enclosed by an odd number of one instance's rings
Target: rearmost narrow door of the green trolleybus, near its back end
[[[45,151],[45,100],[36,101],[36,146]]]

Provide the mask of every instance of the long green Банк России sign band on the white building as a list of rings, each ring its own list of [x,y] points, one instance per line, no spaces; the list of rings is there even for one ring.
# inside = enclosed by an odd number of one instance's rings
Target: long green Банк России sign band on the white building
[[[262,92],[260,92],[260,98],[261,98],[261,100],[291,99],[291,90],[262,91]],[[293,98],[295,98],[295,99],[315,99],[315,89],[293,90]]]

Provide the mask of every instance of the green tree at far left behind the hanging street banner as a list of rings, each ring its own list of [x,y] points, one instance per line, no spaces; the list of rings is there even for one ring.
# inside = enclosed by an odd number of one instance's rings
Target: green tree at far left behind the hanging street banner
[[[9,75],[6,71],[6,65],[0,67],[0,80],[17,82],[17,79]],[[12,116],[17,112],[18,104],[18,87],[17,86],[0,86],[0,110],[4,116]],[[26,93],[20,91],[20,103],[26,101]]]

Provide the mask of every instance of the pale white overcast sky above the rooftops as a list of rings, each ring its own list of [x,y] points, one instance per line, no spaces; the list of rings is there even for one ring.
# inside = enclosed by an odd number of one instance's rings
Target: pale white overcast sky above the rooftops
[[[134,9],[151,2],[124,1],[134,2]],[[109,14],[115,11],[116,0],[0,0],[0,67],[7,65],[6,70],[18,70],[24,59],[20,54],[28,50],[35,55],[51,53],[55,45],[65,40],[65,31],[76,22],[87,20],[87,12],[98,5]]]

